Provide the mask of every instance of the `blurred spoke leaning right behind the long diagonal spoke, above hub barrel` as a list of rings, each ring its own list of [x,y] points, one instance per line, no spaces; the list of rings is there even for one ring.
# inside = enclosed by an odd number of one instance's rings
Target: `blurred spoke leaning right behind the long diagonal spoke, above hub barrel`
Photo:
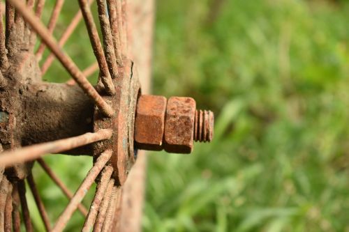
[[[89,5],[91,5],[92,2],[93,2],[92,0],[89,0]],[[82,14],[81,14],[81,10],[79,10],[73,17],[73,20],[71,20],[68,27],[66,28],[66,31],[64,31],[61,38],[59,39],[58,41],[59,47],[63,47],[66,44],[66,41],[68,40],[68,38],[70,38],[71,34],[74,32],[75,28],[77,27],[81,19],[82,19]],[[50,54],[49,56],[47,56],[46,61],[41,66],[41,75],[45,75],[48,68],[50,68],[50,65],[52,64],[52,61],[54,61],[54,54]]]

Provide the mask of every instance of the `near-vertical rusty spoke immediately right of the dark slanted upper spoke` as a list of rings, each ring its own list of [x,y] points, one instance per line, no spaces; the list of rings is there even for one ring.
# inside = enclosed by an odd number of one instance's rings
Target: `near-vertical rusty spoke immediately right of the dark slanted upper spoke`
[[[110,23],[107,16],[107,6],[105,0],[97,0],[98,6],[98,18],[101,24],[101,31],[103,36],[103,45],[105,57],[107,60],[107,65],[109,68],[110,75],[112,78],[117,77],[117,61],[115,58],[114,45],[112,42],[112,33],[110,31]]]

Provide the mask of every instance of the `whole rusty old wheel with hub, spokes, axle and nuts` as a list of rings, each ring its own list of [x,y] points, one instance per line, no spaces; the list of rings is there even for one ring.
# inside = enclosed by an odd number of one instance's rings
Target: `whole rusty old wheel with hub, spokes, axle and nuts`
[[[138,148],[190,153],[194,140],[212,138],[213,114],[195,111],[193,99],[142,95],[149,86],[152,0],[97,0],[98,26],[92,1],[78,2],[80,10],[58,42],[52,32],[63,0],[56,1],[47,27],[40,21],[45,0],[8,0],[1,13],[0,148],[5,151],[0,155],[0,231],[20,231],[21,224],[34,231],[26,180],[47,231],[63,231],[75,210],[86,217],[82,231],[139,231],[145,156]],[[83,72],[62,49],[80,20],[96,56],[96,63]],[[36,38],[41,41],[38,49]],[[45,47],[52,54],[39,66]],[[70,81],[42,81],[53,59],[64,66]],[[94,87],[87,76],[95,71]],[[75,194],[43,160],[50,153],[93,156]],[[70,199],[54,224],[36,188],[34,162]],[[96,192],[87,210],[81,201],[93,183]]]

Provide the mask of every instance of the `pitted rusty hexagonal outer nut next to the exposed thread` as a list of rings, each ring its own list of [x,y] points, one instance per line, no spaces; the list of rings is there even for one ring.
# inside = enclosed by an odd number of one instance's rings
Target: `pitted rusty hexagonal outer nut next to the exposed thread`
[[[196,102],[193,98],[172,97],[165,116],[164,148],[169,153],[191,153]]]

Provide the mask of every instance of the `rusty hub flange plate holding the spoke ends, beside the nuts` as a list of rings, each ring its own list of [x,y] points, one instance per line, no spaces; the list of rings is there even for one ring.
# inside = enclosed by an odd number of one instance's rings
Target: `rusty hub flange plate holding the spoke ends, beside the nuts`
[[[138,76],[133,72],[132,61],[124,61],[124,67],[119,69],[119,75],[113,79],[113,83],[116,88],[114,96],[101,94],[103,99],[114,109],[114,115],[105,118],[98,109],[95,109],[94,113],[94,131],[111,128],[113,135],[111,139],[94,146],[94,155],[97,157],[98,154],[107,149],[113,151],[110,162],[114,168],[114,178],[119,182],[119,185],[123,185],[135,162],[133,125],[140,84]]]

